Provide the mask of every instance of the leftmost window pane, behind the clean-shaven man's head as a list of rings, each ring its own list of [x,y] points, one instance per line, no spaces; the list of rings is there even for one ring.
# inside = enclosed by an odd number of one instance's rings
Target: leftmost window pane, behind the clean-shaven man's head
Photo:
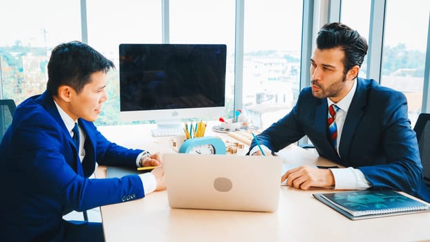
[[[3,1],[0,22],[1,90],[3,98],[19,104],[46,90],[50,51],[57,44],[81,39],[80,5],[79,1]]]

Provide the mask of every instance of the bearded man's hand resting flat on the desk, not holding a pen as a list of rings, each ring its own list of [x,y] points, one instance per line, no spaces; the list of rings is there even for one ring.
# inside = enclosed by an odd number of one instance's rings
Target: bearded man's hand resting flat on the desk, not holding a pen
[[[290,169],[283,174],[281,183],[287,180],[287,185],[307,190],[310,187],[333,187],[335,177],[330,169],[317,169],[314,167],[301,166]]]

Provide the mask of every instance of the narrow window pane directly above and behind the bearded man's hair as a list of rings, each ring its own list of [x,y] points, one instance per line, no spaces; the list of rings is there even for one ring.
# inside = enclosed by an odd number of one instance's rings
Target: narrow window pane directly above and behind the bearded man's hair
[[[355,0],[342,0],[340,21],[359,32],[368,41],[371,19],[371,0],[362,0],[357,4]],[[358,73],[366,78],[367,55]]]

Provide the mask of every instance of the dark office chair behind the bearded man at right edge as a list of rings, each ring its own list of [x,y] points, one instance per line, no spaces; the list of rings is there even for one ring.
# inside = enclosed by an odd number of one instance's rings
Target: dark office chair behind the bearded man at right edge
[[[420,113],[413,130],[417,133],[424,181],[430,187],[430,113]]]

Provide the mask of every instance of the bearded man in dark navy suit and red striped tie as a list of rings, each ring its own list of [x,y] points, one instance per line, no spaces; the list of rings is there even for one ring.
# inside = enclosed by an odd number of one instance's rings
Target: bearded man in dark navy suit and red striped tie
[[[430,201],[406,97],[357,77],[367,49],[366,39],[348,26],[323,26],[310,59],[311,86],[257,138],[270,154],[308,136],[319,156],[346,167],[290,169],[281,178],[289,186],[395,189]],[[261,155],[255,145],[250,154]]]

